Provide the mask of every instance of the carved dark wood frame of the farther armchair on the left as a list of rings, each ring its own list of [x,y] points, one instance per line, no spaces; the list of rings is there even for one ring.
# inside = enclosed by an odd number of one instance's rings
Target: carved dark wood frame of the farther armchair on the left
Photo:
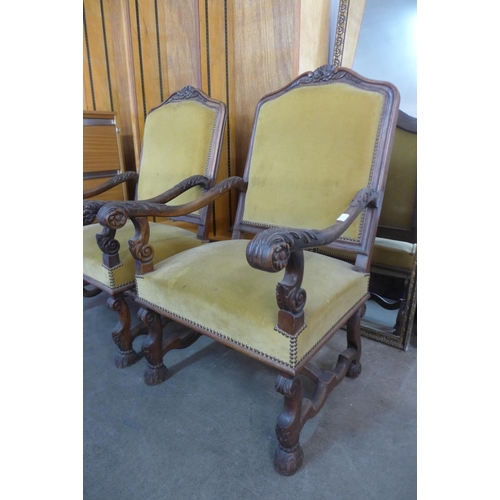
[[[217,178],[217,169],[219,165],[222,140],[226,124],[227,107],[223,102],[212,99],[203,91],[187,85],[181,90],[174,92],[159,106],[151,109],[150,113],[162,106],[167,106],[170,103],[180,101],[199,102],[203,106],[214,109],[216,111],[216,118],[212,135],[212,148],[209,152],[205,175],[194,175],[188,177],[187,179],[168,189],[164,193],[158,194],[157,196],[146,200],[151,203],[168,203],[188,189],[193,188],[194,186],[201,186],[203,189],[209,190],[214,186]],[[139,168],[139,173],[124,172],[123,174],[116,175],[114,178],[103,183],[101,186],[84,192],[84,200],[91,196],[101,194],[107,189],[110,189],[111,187],[119,185],[123,182],[132,181],[135,184],[134,200],[137,201],[137,183],[140,173],[141,171]],[[106,203],[107,200],[84,201],[83,225],[85,226],[93,223],[99,209]],[[133,202],[130,201],[127,203]],[[198,226],[197,237],[201,240],[206,241],[208,238],[211,210],[212,204],[206,204],[204,206],[201,206],[197,213],[183,213],[177,218],[177,220],[196,224]],[[118,241],[114,239],[115,234],[116,230],[106,230],[103,234],[96,235],[97,244],[103,252],[103,263],[110,268],[120,264],[118,256],[120,245]],[[153,256],[151,254],[151,258],[152,257]],[[135,338],[137,338],[139,335],[145,334],[147,332],[147,329],[142,323],[132,328],[130,310],[125,301],[125,298],[127,296],[131,296],[132,298],[135,297],[135,284],[132,283],[119,288],[109,288],[102,283],[94,280],[91,276],[86,275],[83,276],[83,284],[84,297],[92,297],[100,293],[100,291],[105,291],[109,294],[107,302],[108,306],[118,313],[118,323],[111,334],[115,344],[119,349],[115,357],[115,366],[117,368],[124,368],[136,363],[142,357],[142,351],[136,352],[133,349],[132,344]],[[89,288],[88,285],[92,285],[94,288]]]

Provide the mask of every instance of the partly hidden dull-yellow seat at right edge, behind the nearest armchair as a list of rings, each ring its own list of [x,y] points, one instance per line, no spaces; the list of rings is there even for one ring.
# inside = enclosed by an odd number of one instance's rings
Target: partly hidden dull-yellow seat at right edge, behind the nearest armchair
[[[327,247],[318,248],[318,252],[338,259],[353,262],[354,256],[348,252],[333,250]],[[411,272],[417,257],[417,244],[406,241],[375,238],[371,265],[403,272]]]

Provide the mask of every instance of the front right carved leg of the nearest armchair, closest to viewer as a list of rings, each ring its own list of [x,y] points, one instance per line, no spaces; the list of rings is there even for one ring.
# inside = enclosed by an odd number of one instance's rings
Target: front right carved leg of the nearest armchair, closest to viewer
[[[299,443],[302,429],[302,380],[297,375],[288,378],[278,375],[275,384],[276,391],[285,397],[283,409],[276,421],[276,436],[278,448],[274,456],[274,468],[283,476],[292,476],[302,465],[304,452]]]

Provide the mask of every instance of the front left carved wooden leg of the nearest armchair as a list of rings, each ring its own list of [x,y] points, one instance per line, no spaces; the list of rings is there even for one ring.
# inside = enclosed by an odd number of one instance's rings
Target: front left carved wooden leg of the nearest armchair
[[[142,344],[142,352],[148,362],[144,381],[148,385],[161,384],[167,378],[168,370],[163,364],[163,325],[160,315],[143,308],[139,309],[138,315],[149,329],[148,337]]]

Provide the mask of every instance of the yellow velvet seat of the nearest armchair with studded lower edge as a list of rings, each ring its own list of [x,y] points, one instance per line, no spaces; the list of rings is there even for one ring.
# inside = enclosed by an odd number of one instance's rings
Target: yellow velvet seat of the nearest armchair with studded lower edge
[[[166,259],[137,276],[137,296],[222,343],[293,369],[365,297],[369,276],[349,263],[304,252],[305,327],[292,336],[275,329],[276,284],[284,271],[252,268],[247,244],[210,243]]]

